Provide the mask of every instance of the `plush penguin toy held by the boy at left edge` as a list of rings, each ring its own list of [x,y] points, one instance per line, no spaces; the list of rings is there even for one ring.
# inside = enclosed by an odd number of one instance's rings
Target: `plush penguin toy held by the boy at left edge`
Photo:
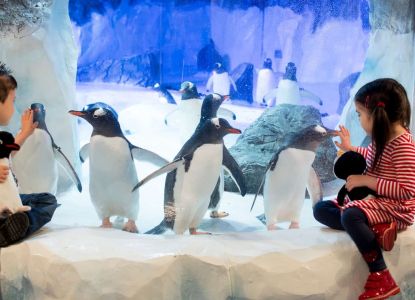
[[[10,153],[19,149],[20,146],[14,142],[12,134],[0,131],[0,165],[9,166]],[[11,212],[16,212],[18,208],[23,206],[11,172],[9,172],[7,179],[0,183],[0,204],[9,208]]]

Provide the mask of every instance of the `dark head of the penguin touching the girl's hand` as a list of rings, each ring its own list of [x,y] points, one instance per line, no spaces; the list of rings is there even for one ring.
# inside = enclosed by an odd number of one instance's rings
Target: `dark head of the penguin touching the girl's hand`
[[[336,131],[324,126],[310,125],[295,135],[293,145],[299,149],[315,151],[327,138],[334,137]]]

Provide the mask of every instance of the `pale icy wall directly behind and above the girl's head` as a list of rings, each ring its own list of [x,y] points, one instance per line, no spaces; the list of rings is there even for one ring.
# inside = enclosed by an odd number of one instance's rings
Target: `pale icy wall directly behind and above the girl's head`
[[[401,82],[412,104],[412,116],[415,116],[415,1],[371,0],[370,11],[372,30],[366,60],[340,121],[353,132],[355,145],[361,144],[366,136],[360,127],[352,97],[369,81],[391,77]],[[414,132],[413,117],[411,123]]]

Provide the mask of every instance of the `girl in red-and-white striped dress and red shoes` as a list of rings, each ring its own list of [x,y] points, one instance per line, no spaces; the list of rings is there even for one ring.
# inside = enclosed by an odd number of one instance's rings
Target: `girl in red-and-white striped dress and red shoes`
[[[386,299],[400,292],[389,273],[382,250],[393,248],[397,231],[412,225],[415,216],[415,145],[409,132],[411,108],[403,86],[394,79],[369,82],[355,96],[360,124],[372,143],[351,145],[350,133],[340,126],[343,151],[362,154],[367,162],[363,175],[347,178],[346,189],[368,187],[377,197],[349,201],[322,201],[314,207],[317,221],[346,230],[369,266],[365,291],[359,299]]]

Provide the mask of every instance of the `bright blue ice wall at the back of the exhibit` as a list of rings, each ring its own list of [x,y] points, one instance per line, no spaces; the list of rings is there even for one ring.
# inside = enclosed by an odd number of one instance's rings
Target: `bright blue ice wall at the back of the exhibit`
[[[212,3],[71,0],[78,81],[203,82],[207,73],[197,72],[197,55],[210,39],[230,69],[244,62],[259,68],[271,57],[280,70],[296,62],[299,80],[339,82],[362,66],[369,29],[365,0]],[[323,68],[333,70],[319,78]]]

